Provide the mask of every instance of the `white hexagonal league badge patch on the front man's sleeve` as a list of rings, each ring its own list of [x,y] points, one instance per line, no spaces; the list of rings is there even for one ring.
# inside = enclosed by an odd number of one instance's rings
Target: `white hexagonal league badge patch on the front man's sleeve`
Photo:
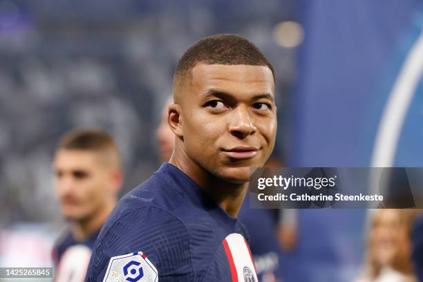
[[[142,252],[113,256],[103,282],[157,282],[158,271]]]

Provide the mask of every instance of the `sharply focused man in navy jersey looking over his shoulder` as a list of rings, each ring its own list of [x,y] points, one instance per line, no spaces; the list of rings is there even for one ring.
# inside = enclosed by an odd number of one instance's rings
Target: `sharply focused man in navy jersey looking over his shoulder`
[[[113,209],[86,281],[257,281],[236,216],[274,147],[273,68],[243,37],[207,37],[180,59],[173,101],[171,160]]]

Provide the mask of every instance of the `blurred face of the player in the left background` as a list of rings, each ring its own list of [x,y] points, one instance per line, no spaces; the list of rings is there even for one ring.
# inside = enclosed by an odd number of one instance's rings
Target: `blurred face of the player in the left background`
[[[95,216],[112,195],[111,171],[98,154],[74,149],[59,149],[56,153],[54,186],[62,215],[68,220]]]

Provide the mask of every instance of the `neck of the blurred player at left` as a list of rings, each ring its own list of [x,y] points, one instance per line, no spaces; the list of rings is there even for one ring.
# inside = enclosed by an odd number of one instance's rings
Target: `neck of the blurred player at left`
[[[95,214],[82,220],[73,221],[71,231],[75,240],[84,241],[98,232],[102,228],[102,225],[106,221],[114,205],[114,203],[109,203],[109,205],[95,212]]]

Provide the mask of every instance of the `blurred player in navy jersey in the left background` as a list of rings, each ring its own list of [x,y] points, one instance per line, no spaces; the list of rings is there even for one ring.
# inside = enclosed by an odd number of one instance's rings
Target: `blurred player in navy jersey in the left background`
[[[91,249],[123,182],[118,145],[101,129],[64,135],[53,170],[60,212],[71,225],[53,250],[55,281],[83,281]]]

